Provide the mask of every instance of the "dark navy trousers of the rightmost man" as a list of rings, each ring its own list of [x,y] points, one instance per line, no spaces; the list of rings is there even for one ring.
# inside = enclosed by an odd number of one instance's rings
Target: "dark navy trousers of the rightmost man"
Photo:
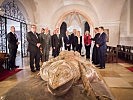
[[[100,47],[98,55],[99,55],[99,64],[100,64],[100,67],[105,68],[106,49]]]

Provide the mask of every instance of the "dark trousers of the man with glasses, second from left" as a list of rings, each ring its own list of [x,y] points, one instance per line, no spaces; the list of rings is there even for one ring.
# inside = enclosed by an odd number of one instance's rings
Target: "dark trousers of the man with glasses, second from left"
[[[30,68],[34,70],[34,62],[36,69],[40,69],[40,50],[30,51]]]

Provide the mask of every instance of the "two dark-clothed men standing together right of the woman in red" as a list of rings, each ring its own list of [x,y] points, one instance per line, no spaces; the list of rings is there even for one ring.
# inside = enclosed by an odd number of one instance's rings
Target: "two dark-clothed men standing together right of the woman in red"
[[[95,65],[99,64],[98,67],[100,67],[100,69],[104,69],[106,61],[107,35],[104,32],[104,27],[95,28],[94,32],[95,36],[92,38],[94,41],[92,61]]]

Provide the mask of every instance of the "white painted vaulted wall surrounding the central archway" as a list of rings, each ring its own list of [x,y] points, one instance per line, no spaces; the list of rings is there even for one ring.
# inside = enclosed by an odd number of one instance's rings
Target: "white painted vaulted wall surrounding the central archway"
[[[126,10],[123,10],[125,1],[127,0],[19,0],[27,13],[27,23],[36,24],[38,32],[46,26],[52,32],[60,26],[68,13],[76,10],[86,17],[92,28],[104,26],[109,29],[108,45],[113,46],[119,43],[120,34],[126,31],[126,28],[122,29],[126,17]]]

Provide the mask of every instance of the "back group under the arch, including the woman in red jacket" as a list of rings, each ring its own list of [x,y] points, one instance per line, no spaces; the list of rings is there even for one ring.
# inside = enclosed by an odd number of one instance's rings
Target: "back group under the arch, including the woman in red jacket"
[[[78,51],[81,54],[83,42],[82,42],[82,36],[80,34],[80,31],[73,29],[72,34],[69,34],[69,32],[66,31],[66,34],[63,40],[65,44],[65,50],[70,51],[72,47],[72,50]],[[91,35],[89,31],[86,31],[84,34],[84,45],[86,49],[86,58],[90,59]]]

